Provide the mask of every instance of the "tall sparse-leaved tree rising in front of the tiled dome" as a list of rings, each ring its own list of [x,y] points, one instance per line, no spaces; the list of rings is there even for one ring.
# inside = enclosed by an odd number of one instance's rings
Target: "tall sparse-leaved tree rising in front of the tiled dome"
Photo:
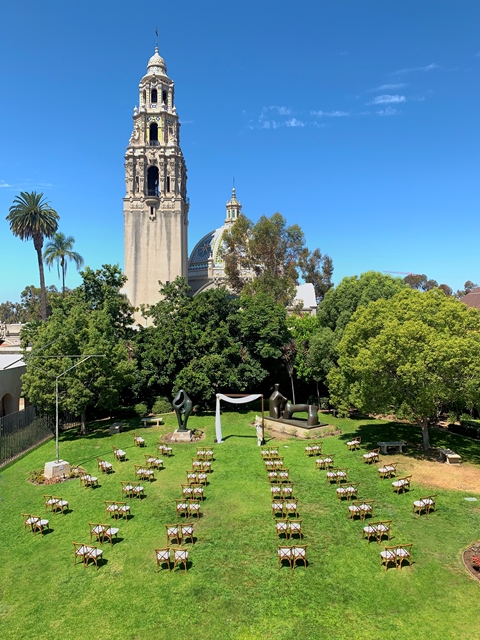
[[[240,215],[223,240],[225,273],[236,293],[262,293],[288,305],[295,296],[300,272],[313,283],[317,296],[331,286],[330,258],[323,257],[319,249],[310,254],[301,228],[287,226],[280,213],[262,216],[256,224]]]

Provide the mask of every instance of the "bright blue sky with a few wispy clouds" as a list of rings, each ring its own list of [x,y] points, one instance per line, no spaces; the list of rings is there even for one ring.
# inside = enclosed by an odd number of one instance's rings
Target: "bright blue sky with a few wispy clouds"
[[[375,269],[480,284],[479,23],[478,0],[7,3],[0,301],[38,284],[33,243],[5,221],[20,191],[44,192],[86,264],[123,265],[123,157],[156,25],[190,250],[235,176],[244,213],[300,224],[336,283]]]

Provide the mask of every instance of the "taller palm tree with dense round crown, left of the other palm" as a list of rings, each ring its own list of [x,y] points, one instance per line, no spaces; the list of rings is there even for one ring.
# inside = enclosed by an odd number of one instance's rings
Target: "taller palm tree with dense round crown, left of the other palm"
[[[37,252],[40,272],[40,295],[42,301],[42,320],[47,319],[47,296],[45,293],[45,274],[43,271],[42,248],[45,238],[51,238],[58,228],[60,216],[44,199],[43,193],[20,192],[9,209],[7,220],[13,235],[21,240],[33,240]]]

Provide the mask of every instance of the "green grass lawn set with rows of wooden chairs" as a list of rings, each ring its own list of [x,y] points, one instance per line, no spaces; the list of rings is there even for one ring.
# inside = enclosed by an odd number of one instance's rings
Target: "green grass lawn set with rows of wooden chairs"
[[[164,427],[136,428],[147,443],[133,446],[130,431],[110,436],[102,426],[85,438],[64,434],[61,456],[96,472],[95,456],[114,463],[115,473],[101,476],[90,490],[72,480],[48,490],[26,482],[31,469],[54,458],[49,441],[4,469],[0,475],[0,637],[90,639],[342,639],[462,638],[478,639],[480,584],[463,569],[461,554],[480,538],[479,503],[471,494],[420,487],[397,496],[390,481],[380,480],[375,465],[362,463],[362,451],[348,452],[345,441],[355,432],[366,447],[378,439],[420,434],[406,425],[374,420],[332,419],[340,436],[324,439],[324,451],[349,468],[360,482],[360,496],[375,499],[375,519],[393,520],[393,542],[413,542],[413,569],[380,568],[381,547],[361,539],[362,523],[346,517],[347,505],[335,497],[325,472],[304,456],[306,442],[277,440],[290,469],[309,565],[305,571],[277,568],[277,539],[254,414],[225,413],[225,442],[215,445],[214,472],[205,489],[203,517],[196,523],[198,542],[192,565],[183,571],[155,572],[154,549],[165,546],[165,523],[175,522],[175,498],[181,497],[185,470],[195,444],[174,445],[165,469],[146,483],[147,497],[131,499],[133,517],[119,520],[120,541],[101,545],[106,562],[97,571],[73,566],[72,541],[89,540],[88,521],[104,522],[104,500],[121,500],[120,480],[133,479],[134,463],[156,451],[162,433],[173,431],[174,416]],[[190,418],[213,444],[214,416]],[[434,444],[448,444],[466,460],[478,462],[480,445],[432,433]],[[127,452],[115,462],[112,444]],[[203,444],[203,443],[202,443]],[[401,459],[401,456],[396,456]],[[401,466],[399,468],[401,472]],[[448,471],[448,469],[446,470]],[[411,513],[412,501],[433,492],[438,510],[429,517]],[[53,531],[43,538],[23,531],[21,512],[43,514],[42,494],[61,495],[72,511],[47,517]],[[113,520],[112,520],[113,523]]]

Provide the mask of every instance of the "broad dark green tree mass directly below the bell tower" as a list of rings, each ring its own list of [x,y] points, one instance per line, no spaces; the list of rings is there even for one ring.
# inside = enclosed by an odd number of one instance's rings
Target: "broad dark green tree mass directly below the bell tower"
[[[288,329],[271,298],[240,299],[225,289],[192,297],[184,278],[162,286],[153,324],[136,335],[139,397],[172,396],[184,387],[196,402],[221,390],[258,388],[279,368]]]

